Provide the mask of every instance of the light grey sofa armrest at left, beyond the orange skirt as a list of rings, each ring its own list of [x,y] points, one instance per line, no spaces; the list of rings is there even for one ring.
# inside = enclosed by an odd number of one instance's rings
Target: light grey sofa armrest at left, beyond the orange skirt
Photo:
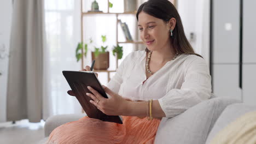
[[[49,117],[44,125],[44,136],[47,137],[50,135],[51,131],[59,127],[62,124],[78,121],[78,119],[86,116],[85,113],[79,114],[69,114],[69,115],[56,115]]]

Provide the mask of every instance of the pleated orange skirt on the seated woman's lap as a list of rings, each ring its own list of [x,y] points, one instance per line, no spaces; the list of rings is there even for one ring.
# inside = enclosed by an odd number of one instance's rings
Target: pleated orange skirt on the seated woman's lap
[[[123,124],[83,117],[54,129],[48,143],[154,143],[160,119],[122,116]]]

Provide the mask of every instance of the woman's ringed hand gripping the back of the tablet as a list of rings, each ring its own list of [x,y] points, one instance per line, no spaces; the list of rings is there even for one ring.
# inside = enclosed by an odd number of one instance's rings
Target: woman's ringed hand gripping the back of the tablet
[[[86,93],[86,95],[88,95],[92,99],[90,100],[90,102],[108,116],[125,116],[130,101],[125,100],[117,93],[112,92],[106,86],[102,87],[104,88],[104,91],[110,95],[110,98],[104,98],[95,89],[93,89],[92,87],[88,87],[88,89],[92,92],[92,94]]]

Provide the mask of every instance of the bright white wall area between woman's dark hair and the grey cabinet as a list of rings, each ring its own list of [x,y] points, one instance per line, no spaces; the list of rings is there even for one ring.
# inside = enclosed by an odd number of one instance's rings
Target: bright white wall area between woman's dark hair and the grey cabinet
[[[177,9],[190,44],[210,65],[210,0],[178,0]]]

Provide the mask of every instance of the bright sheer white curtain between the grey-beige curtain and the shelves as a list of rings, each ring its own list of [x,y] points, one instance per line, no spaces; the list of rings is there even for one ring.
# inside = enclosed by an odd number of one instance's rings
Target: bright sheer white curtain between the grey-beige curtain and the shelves
[[[44,49],[44,113],[51,115],[82,113],[62,70],[79,70],[75,49],[80,41],[80,1],[44,0],[46,47]]]

